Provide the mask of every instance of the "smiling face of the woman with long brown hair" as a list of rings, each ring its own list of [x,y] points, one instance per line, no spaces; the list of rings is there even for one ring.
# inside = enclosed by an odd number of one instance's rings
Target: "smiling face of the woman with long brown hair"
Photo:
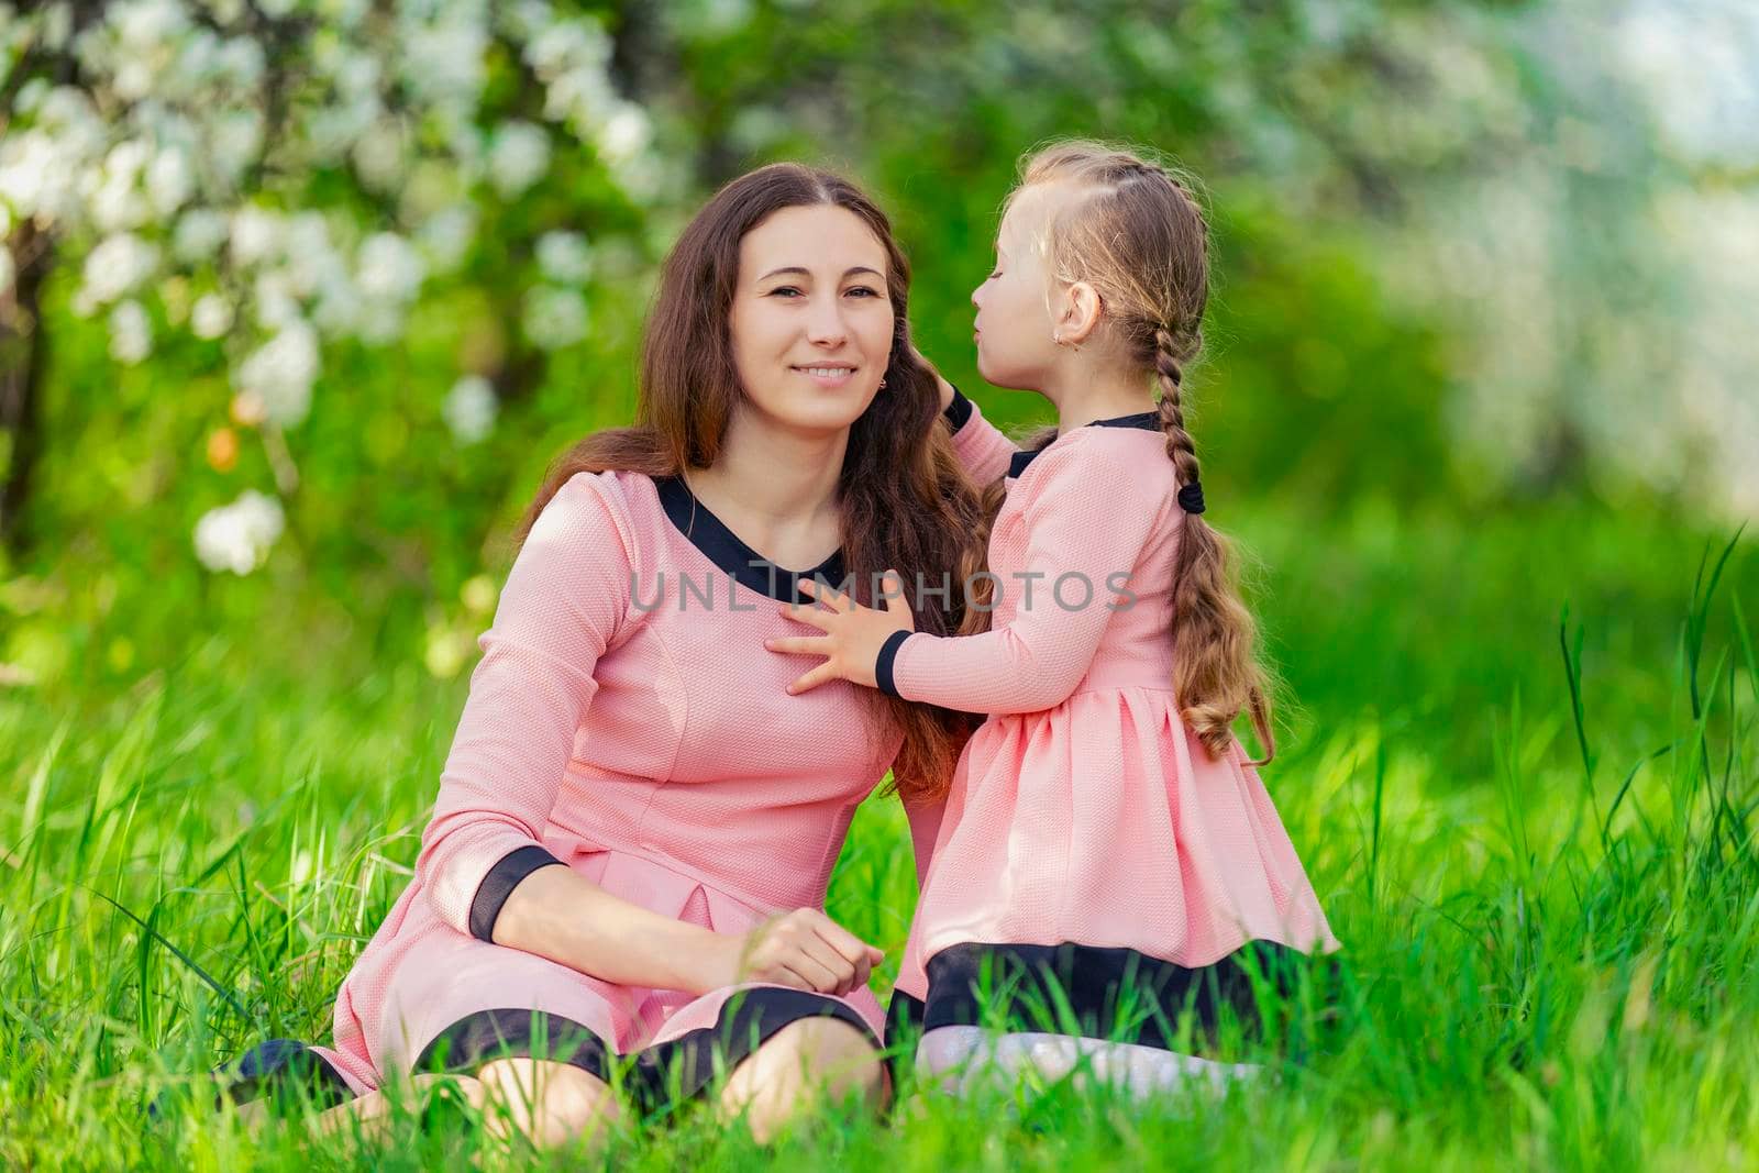
[[[783,208],[739,243],[734,364],[748,404],[779,424],[848,427],[892,357],[887,251],[836,204]]]

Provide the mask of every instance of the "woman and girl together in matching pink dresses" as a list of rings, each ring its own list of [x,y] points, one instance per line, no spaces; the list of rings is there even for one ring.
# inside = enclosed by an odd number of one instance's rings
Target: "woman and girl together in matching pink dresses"
[[[1184,427],[1207,227],[1126,151],[1022,174],[973,302],[983,378],[1057,410],[1025,447],[911,348],[853,185],[777,164],[695,216],[635,426],[521,526],[332,1045],[257,1048],[234,1096],[299,1076],[347,1126],[447,1080],[556,1145],[712,1094],[767,1138],[820,1096],[883,1106],[908,1024],[948,1083],[1235,1073],[1180,1050],[1337,943],[1254,769],[1270,703]],[[821,911],[888,769],[922,883],[890,1024],[880,950]]]

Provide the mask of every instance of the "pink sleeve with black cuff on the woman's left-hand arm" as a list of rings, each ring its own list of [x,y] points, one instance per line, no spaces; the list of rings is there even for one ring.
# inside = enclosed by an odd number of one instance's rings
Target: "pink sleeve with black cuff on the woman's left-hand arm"
[[[630,614],[635,543],[602,475],[572,477],[544,506],[507,575],[440,774],[415,874],[434,911],[493,941],[494,918],[531,872],[598,658]]]

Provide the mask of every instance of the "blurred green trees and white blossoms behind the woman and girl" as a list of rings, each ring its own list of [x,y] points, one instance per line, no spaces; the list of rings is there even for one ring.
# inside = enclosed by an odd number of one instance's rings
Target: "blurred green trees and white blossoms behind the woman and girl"
[[[967,297],[1018,157],[1201,178],[1193,427],[1296,723],[1483,758],[1564,605],[1590,675],[1660,670],[1759,514],[1743,0],[56,0],[0,5],[0,705],[382,674],[443,746],[660,259],[776,158],[878,195],[1004,424],[1047,413]]]

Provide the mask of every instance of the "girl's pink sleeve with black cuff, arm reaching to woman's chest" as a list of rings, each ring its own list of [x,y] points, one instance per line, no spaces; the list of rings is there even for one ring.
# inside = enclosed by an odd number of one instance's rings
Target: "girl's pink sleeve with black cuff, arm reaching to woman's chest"
[[[1025,494],[1017,522],[1027,531],[1025,563],[1018,579],[997,582],[1018,600],[1013,621],[966,637],[899,631],[874,665],[881,691],[992,714],[1068,700],[1112,612],[1136,598],[1129,575],[1168,508],[1170,478],[1140,461],[1133,471],[1126,454],[1108,447],[1101,433],[1047,448],[1015,485]]]

